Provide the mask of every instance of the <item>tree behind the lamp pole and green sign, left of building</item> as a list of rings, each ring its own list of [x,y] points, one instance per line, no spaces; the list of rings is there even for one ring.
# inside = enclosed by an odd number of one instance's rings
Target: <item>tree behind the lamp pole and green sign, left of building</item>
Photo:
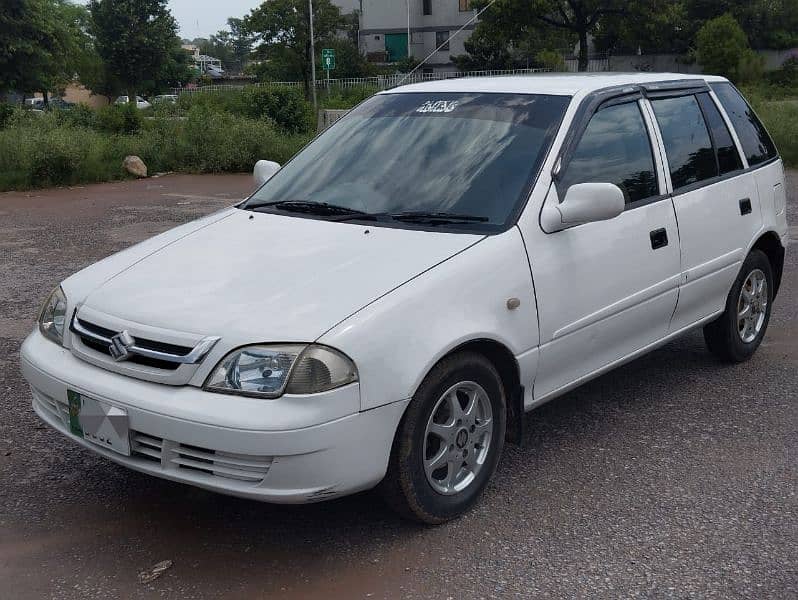
[[[244,18],[257,43],[256,72],[264,79],[294,80],[310,90],[310,26],[307,0],[269,0]],[[335,38],[342,25],[341,10],[330,0],[313,3],[314,41],[321,47]]]

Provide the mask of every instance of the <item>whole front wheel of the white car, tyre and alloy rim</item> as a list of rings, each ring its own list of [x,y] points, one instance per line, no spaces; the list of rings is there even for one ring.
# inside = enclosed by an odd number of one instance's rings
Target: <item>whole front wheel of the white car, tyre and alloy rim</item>
[[[442,360],[408,406],[396,433],[383,497],[402,516],[438,524],[477,501],[504,445],[505,392],[480,354]]]

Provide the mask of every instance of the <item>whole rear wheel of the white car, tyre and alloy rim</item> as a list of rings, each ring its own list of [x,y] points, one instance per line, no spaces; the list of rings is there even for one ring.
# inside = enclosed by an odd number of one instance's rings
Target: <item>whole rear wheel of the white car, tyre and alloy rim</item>
[[[704,340],[721,360],[751,358],[765,337],[773,299],[773,271],[767,256],[752,250],[726,300],[726,310],[706,327]]]

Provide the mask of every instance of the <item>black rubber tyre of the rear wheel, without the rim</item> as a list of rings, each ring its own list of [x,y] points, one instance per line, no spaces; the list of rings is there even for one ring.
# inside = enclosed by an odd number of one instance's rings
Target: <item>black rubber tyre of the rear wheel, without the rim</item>
[[[744,341],[739,330],[738,302],[740,301],[743,285],[745,285],[749,275],[757,270],[765,274],[767,306],[764,310],[764,321],[756,337],[750,341]],[[754,355],[759,344],[762,343],[762,338],[765,337],[765,332],[770,322],[772,306],[773,269],[764,252],[752,250],[743,262],[740,273],[737,275],[734,285],[732,285],[732,289],[726,299],[726,310],[715,321],[704,327],[704,340],[707,348],[724,362],[740,363],[747,361]]]

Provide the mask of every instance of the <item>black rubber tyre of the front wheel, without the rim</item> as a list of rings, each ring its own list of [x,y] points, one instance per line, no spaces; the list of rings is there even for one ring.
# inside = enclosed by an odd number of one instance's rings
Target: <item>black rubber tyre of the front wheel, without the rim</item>
[[[463,490],[444,495],[433,488],[424,470],[424,441],[432,411],[444,393],[461,382],[475,382],[486,392],[492,411],[488,451],[480,470]],[[484,356],[461,352],[444,358],[424,379],[394,438],[388,472],[380,492],[401,516],[437,525],[470,509],[496,471],[504,446],[506,395],[501,377]],[[445,444],[443,444],[445,446]]]

